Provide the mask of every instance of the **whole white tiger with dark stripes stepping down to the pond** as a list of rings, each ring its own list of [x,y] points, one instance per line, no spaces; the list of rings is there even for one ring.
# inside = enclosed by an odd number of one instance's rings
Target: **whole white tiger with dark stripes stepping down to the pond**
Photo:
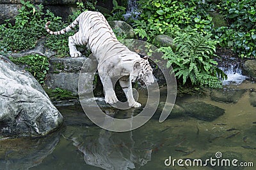
[[[141,106],[132,96],[132,84],[136,80],[142,80],[146,85],[154,83],[152,67],[147,57],[141,58],[137,53],[131,52],[122,45],[109,26],[106,18],[97,11],[84,11],[72,24],[61,31],[51,31],[48,28],[50,22],[45,24],[49,34],[65,34],[79,24],[79,31],[68,37],[68,46],[71,57],[80,57],[76,45],[86,45],[99,62],[98,72],[102,81],[105,101],[113,104],[118,101],[111,78],[121,77],[120,85],[124,90],[129,106],[138,108]]]

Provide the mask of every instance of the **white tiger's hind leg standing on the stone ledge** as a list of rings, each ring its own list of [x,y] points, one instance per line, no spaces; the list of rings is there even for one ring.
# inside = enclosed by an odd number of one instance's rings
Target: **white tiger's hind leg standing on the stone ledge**
[[[82,53],[77,51],[76,45],[80,45],[79,31],[76,32],[76,34],[74,34],[73,36],[68,37],[68,47],[69,47],[70,57],[81,57],[82,56]]]

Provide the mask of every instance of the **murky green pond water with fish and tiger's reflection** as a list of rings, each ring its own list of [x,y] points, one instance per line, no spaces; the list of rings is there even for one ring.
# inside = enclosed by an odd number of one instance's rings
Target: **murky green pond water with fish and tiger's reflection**
[[[178,105],[202,101],[225,110],[211,122],[190,116],[163,123],[151,118],[131,132],[106,131],[93,125],[80,106],[58,106],[65,118],[58,131],[45,138],[0,141],[0,169],[255,169],[256,107],[251,93],[256,83],[244,81],[228,88],[242,89],[243,94],[232,103],[214,101],[211,90],[204,96],[177,99]],[[140,99],[143,103],[143,93]],[[115,117],[125,118],[133,111],[118,111]],[[170,156],[189,164],[189,160],[216,159],[216,152],[222,154],[220,161],[237,159],[237,165],[253,162],[254,167],[180,167],[177,161],[175,166],[164,165]]]

